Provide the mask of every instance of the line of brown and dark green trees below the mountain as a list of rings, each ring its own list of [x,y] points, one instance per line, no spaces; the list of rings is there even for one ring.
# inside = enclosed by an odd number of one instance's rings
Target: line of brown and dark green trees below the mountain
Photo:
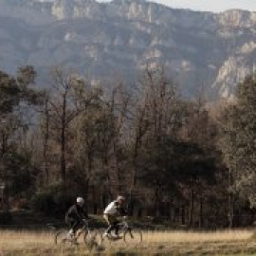
[[[16,76],[0,72],[4,211],[64,216],[82,195],[88,211],[101,214],[123,194],[132,215],[177,227],[253,222],[253,188],[246,188],[253,187],[256,103],[251,116],[246,104],[256,93],[241,92],[255,85],[253,76],[238,86],[237,100],[214,105],[203,94],[182,97],[163,68],[126,85],[91,84],[64,67],[51,70],[48,89],[36,89],[35,79],[32,66]]]

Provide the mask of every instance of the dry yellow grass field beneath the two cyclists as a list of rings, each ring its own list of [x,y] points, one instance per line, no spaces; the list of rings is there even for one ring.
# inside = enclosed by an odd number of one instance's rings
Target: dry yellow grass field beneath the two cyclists
[[[251,230],[216,232],[159,231],[143,232],[143,242],[125,245],[107,243],[101,251],[84,245],[57,247],[53,233],[47,231],[9,231],[0,235],[0,256],[23,255],[256,255],[256,240]]]

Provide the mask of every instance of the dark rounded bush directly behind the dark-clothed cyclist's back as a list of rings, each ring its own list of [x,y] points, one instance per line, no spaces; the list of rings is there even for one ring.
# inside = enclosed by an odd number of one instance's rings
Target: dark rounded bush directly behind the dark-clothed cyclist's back
[[[32,198],[32,209],[48,216],[64,216],[64,212],[74,203],[75,196],[61,184],[52,185],[38,192]]]

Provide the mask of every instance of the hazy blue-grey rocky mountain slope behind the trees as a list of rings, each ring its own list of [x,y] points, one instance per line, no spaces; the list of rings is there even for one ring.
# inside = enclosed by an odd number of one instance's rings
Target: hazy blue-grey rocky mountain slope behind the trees
[[[186,95],[229,97],[255,66],[256,13],[170,9],[145,0],[0,0],[0,69],[67,64],[92,79],[163,64]],[[169,72],[170,70],[170,72]]]

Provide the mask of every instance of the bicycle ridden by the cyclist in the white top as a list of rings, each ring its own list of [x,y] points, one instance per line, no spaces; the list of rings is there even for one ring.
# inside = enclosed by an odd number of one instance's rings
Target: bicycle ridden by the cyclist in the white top
[[[122,240],[126,244],[139,244],[142,242],[142,232],[139,229],[133,228],[127,221],[127,216],[121,218],[121,221],[117,224],[119,226],[119,237],[116,238],[113,235],[104,235],[106,230],[101,233],[101,241],[108,240],[109,242],[116,242]]]

